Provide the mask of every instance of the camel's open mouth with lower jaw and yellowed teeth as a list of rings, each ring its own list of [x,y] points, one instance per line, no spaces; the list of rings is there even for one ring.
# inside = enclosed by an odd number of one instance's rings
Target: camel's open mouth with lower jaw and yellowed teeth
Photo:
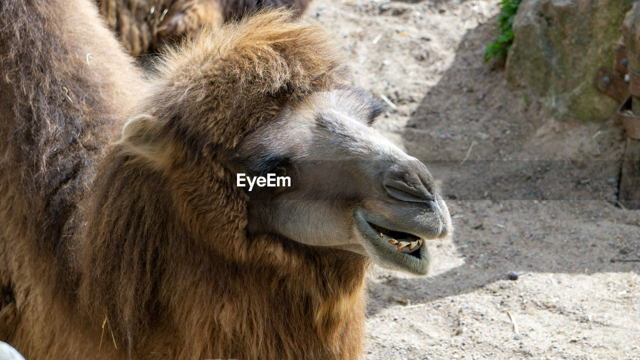
[[[353,220],[362,246],[376,265],[416,275],[429,274],[431,254],[427,241],[443,236],[392,225],[392,221],[370,215],[362,206],[353,210]]]

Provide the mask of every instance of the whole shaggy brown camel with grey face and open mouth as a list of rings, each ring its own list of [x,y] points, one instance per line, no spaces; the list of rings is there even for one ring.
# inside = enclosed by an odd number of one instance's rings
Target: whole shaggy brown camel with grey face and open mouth
[[[358,359],[372,263],[451,231],[339,51],[285,11],[147,78],[90,0],[0,3],[0,340],[28,360]],[[238,174],[291,186],[236,186]]]

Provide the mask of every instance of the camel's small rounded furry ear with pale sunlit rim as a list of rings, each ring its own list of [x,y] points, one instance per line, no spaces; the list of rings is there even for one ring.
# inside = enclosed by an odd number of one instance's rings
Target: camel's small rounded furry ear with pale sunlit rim
[[[157,170],[168,170],[177,158],[175,145],[169,136],[163,135],[159,122],[151,115],[132,117],[122,129],[122,137],[117,144]]]

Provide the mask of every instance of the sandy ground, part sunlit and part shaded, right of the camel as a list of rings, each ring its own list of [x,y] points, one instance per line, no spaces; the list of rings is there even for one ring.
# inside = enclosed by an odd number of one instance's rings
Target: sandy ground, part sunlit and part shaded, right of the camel
[[[396,106],[376,127],[428,165],[456,222],[432,277],[372,272],[366,359],[640,359],[640,263],[616,261],[640,258],[640,211],[616,206],[623,130],[554,122],[484,63],[497,3],[305,15]]]

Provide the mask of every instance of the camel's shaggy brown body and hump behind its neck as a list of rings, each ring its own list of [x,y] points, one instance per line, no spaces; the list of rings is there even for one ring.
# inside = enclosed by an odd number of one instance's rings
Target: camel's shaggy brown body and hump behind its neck
[[[88,1],[0,2],[0,336],[30,359],[91,359],[69,241],[141,73]],[[74,339],[74,341],[67,341]]]

